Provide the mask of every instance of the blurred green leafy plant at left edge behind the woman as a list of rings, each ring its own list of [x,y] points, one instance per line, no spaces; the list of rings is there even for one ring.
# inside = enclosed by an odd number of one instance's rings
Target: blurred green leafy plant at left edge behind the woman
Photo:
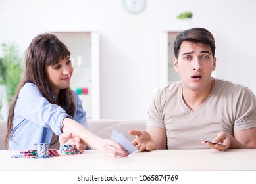
[[[0,84],[5,85],[7,103],[10,104],[16,93],[22,74],[22,59],[14,43],[1,44],[3,57],[0,58]]]

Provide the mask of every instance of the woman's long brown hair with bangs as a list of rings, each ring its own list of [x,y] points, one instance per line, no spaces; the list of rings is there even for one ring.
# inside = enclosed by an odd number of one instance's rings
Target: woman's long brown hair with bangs
[[[36,36],[28,50],[25,57],[24,77],[18,86],[16,94],[9,108],[7,118],[7,133],[5,135],[5,147],[8,147],[9,139],[11,139],[11,131],[13,130],[14,107],[20,93],[20,89],[28,82],[34,83],[50,103],[65,106],[67,114],[74,115],[75,105],[74,97],[70,87],[61,89],[57,96],[57,101],[51,97],[51,89],[46,75],[46,68],[59,63],[60,60],[66,59],[70,56],[68,47],[64,45],[55,35],[45,33]]]

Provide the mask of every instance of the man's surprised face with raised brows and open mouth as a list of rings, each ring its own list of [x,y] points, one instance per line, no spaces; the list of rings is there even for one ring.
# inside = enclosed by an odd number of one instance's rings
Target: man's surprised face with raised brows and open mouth
[[[201,91],[209,85],[215,67],[211,47],[202,43],[183,41],[178,59],[174,58],[174,70],[180,74],[183,87],[193,91]]]

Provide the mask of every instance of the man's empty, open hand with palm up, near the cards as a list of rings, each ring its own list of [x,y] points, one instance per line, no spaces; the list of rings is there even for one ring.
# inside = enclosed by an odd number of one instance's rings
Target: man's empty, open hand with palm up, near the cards
[[[155,150],[157,149],[157,143],[155,143],[151,135],[147,131],[140,131],[140,130],[130,130],[130,135],[136,135],[136,139],[132,141],[132,144],[141,151],[147,150]]]

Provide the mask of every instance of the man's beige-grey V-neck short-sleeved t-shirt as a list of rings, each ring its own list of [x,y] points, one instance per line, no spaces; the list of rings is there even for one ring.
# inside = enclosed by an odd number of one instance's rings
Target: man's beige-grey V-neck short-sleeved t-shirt
[[[215,79],[211,95],[192,111],[182,99],[182,83],[159,89],[149,108],[147,127],[166,129],[168,149],[207,149],[219,131],[234,135],[256,127],[256,97],[243,85]]]

